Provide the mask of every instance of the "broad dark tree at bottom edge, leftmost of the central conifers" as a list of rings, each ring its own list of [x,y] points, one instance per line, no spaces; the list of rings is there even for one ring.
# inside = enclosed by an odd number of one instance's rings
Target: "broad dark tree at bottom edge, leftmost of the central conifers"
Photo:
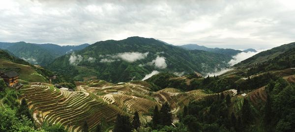
[[[114,132],[131,132],[132,125],[128,116],[117,115]]]

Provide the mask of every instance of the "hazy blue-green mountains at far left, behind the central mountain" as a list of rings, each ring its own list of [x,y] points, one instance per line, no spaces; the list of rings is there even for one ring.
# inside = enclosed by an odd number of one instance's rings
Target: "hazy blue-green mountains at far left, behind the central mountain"
[[[54,44],[31,44],[26,42],[2,43],[0,49],[8,50],[31,64],[46,65],[66,53],[84,49],[89,44],[79,46],[59,46]]]

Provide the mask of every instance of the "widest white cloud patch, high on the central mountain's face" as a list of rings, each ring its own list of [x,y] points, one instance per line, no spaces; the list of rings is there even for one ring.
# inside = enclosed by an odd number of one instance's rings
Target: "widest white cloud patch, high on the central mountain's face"
[[[148,56],[148,52],[147,53],[125,52],[125,53],[118,53],[116,56],[118,56],[119,58],[127,62],[134,62],[134,61],[146,58]]]

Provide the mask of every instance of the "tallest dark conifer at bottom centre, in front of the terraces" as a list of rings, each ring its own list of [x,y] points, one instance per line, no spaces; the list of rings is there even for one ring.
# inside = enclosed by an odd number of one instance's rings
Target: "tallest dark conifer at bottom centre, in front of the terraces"
[[[163,126],[170,126],[173,122],[172,113],[168,102],[165,102],[160,110],[160,121]]]

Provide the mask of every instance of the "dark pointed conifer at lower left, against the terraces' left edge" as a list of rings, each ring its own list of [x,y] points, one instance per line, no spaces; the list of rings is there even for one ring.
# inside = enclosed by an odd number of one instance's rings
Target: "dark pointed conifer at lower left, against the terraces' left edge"
[[[17,109],[17,117],[21,119],[22,115],[26,116],[32,123],[34,122],[25,98],[22,99],[21,105]]]

